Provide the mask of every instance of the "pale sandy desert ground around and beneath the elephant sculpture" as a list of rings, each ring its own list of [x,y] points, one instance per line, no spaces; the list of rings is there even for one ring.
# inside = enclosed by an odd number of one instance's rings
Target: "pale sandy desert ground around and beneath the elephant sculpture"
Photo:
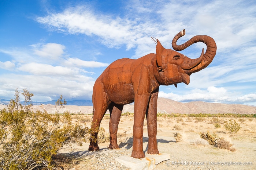
[[[73,115],[73,122],[86,123],[90,127],[92,115]],[[108,138],[109,115],[105,115],[100,127]],[[240,124],[240,131],[230,133],[224,128],[224,121],[235,120]],[[220,128],[214,123],[219,122]],[[160,153],[168,153],[169,161],[156,165],[155,169],[256,169],[256,118],[233,117],[157,117],[157,146]],[[235,151],[218,148],[200,138],[199,132],[215,132],[224,138]],[[131,155],[133,142],[133,115],[121,116],[118,128],[119,149],[108,149],[108,142],[100,143],[100,151],[88,151],[89,142],[83,146],[72,145],[60,151],[68,157],[59,169],[129,169],[114,158]],[[181,142],[176,143],[174,134],[182,135]],[[108,139],[107,139],[108,140]],[[148,135],[144,120],[143,150],[147,151]],[[187,165],[189,164],[189,165]],[[217,164],[217,165],[216,165]],[[233,164],[233,165],[225,165]],[[234,165],[242,164],[242,165]]]

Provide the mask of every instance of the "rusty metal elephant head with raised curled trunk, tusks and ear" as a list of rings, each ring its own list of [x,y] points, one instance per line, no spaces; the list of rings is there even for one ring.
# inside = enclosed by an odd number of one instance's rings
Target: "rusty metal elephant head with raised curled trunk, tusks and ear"
[[[182,45],[177,45],[177,40],[183,35],[185,35],[185,30],[179,32],[173,38],[172,47],[174,50],[184,50],[197,42],[205,43],[207,50],[204,53],[203,49],[199,58],[190,59],[177,51],[165,49],[157,39],[156,63],[158,73],[155,77],[161,85],[174,84],[175,87],[177,87],[177,83],[184,82],[185,84],[189,84],[189,76],[192,73],[198,72],[207,67],[212,62],[216,54],[216,43],[211,37],[207,35],[197,35]]]

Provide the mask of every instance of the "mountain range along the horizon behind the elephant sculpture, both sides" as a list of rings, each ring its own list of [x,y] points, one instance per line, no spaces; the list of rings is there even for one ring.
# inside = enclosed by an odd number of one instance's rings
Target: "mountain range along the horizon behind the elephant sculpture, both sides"
[[[1,104],[6,103],[7,100],[0,100],[0,109],[6,108],[6,105]],[[88,105],[82,105],[86,104]],[[38,102],[37,104],[33,103],[33,111],[41,109],[41,104],[44,104],[44,108],[48,113],[55,113],[56,108],[54,107],[55,101],[51,102]],[[77,104],[77,105],[75,105]],[[64,108],[60,109],[60,113],[64,111],[70,111],[70,113],[85,113],[91,114],[93,110],[91,100],[74,100],[67,101],[67,105]],[[134,103],[124,105],[123,112],[134,112]],[[191,114],[191,113],[209,113],[209,114],[218,114],[218,113],[235,113],[235,114],[256,114],[256,106],[242,105],[242,104],[222,104],[222,103],[208,103],[204,101],[192,101],[188,103],[181,103],[174,101],[168,98],[159,97],[157,100],[157,112],[162,113],[181,113],[181,114]],[[107,114],[109,112],[107,111]]]

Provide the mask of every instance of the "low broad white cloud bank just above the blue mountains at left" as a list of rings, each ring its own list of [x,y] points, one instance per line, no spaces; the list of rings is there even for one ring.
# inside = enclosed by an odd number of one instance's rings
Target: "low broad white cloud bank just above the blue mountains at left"
[[[1,96],[11,97],[14,90],[27,88],[35,94],[33,101],[56,100],[60,94],[66,100],[81,98],[90,100],[94,80],[87,76],[74,77],[51,77],[44,75],[21,75],[21,74],[4,74],[0,79],[1,89],[4,91]],[[1,94],[1,91],[0,91]],[[6,95],[9,96],[6,96]],[[7,98],[8,99],[8,98]]]

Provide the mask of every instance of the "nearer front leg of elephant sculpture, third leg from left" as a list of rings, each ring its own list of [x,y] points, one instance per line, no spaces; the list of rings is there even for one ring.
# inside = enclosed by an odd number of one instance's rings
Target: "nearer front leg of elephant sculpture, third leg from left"
[[[133,151],[131,157],[145,158],[143,152],[143,122],[148,107],[149,94],[135,95],[133,124]]]

